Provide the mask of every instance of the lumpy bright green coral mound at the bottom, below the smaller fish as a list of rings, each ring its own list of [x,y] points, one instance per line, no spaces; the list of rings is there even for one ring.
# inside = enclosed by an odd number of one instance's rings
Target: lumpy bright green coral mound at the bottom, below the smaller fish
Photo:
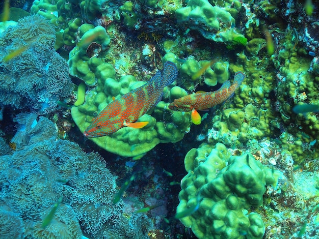
[[[262,204],[265,185],[276,187],[282,173],[263,166],[251,154],[230,156],[224,144],[204,144],[185,156],[177,214],[198,238],[262,238],[264,224],[251,206]]]

